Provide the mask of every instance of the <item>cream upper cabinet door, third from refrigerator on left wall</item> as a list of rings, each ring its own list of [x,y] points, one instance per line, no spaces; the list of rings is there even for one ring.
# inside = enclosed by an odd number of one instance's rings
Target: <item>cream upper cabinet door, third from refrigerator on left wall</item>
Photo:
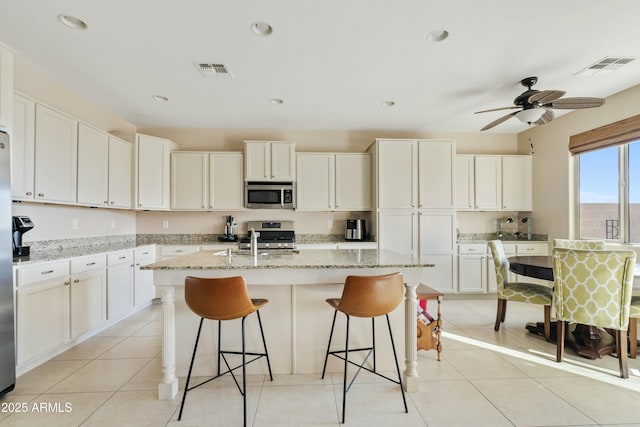
[[[109,135],[78,125],[78,203],[109,206]]]

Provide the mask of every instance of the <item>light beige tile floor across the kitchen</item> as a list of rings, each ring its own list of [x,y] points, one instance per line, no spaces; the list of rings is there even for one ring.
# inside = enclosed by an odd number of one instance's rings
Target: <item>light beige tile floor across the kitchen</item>
[[[542,308],[509,304],[496,333],[494,299],[445,299],[442,361],[420,351],[421,390],[407,395],[409,413],[397,386],[363,375],[348,394],[346,425],[640,426],[640,358],[629,360],[628,380],[612,356],[589,361],[568,349],[558,364],[555,345],[524,329]],[[157,399],[160,331],[153,305],[24,374],[0,399],[0,427],[241,425],[242,399],[228,377],[191,392],[180,422],[182,393]],[[341,381],[252,375],[249,425],[338,426]]]

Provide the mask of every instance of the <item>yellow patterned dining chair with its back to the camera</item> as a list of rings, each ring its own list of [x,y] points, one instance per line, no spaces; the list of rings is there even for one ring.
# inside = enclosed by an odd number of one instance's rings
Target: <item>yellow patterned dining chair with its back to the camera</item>
[[[553,250],[557,362],[564,355],[566,322],[615,329],[620,376],[629,377],[626,330],[635,263],[633,251]]]

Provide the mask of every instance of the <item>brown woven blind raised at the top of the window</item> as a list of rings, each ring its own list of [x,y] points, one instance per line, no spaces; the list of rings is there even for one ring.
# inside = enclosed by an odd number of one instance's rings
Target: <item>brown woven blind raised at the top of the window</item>
[[[640,139],[640,115],[569,137],[571,154],[584,153]]]

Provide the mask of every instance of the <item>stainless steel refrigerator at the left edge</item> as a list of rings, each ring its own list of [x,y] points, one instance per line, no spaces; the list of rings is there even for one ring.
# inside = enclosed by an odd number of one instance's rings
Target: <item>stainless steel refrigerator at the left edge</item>
[[[16,383],[9,135],[0,131],[0,395]]]

